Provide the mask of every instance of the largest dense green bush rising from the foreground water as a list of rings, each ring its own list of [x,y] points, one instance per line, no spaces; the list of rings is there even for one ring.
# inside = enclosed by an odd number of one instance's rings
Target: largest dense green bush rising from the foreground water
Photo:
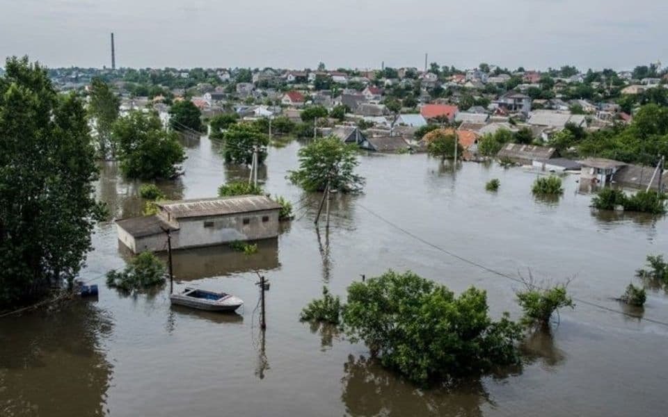
[[[383,366],[420,384],[519,361],[521,327],[507,313],[493,321],[485,291],[455,297],[413,272],[351,284],[343,324],[353,343],[363,341]]]

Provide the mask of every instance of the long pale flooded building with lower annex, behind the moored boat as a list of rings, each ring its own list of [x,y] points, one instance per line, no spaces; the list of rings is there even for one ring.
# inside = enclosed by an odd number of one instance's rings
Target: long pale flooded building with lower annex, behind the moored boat
[[[157,215],[116,221],[118,240],[133,253],[261,240],[278,236],[280,204],[264,195],[158,202]]]

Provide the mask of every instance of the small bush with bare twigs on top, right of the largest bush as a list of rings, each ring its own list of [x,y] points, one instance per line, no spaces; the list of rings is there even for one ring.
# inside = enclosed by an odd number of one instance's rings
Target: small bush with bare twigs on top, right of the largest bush
[[[525,326],[548,327],[552,313],[563,308],[575,306],[566,292],[566,284],[559,284],[552,288],[540,289],[533,284],[527,284],[525,291],[519,291],[517,300],[524,311],[521,320]]]

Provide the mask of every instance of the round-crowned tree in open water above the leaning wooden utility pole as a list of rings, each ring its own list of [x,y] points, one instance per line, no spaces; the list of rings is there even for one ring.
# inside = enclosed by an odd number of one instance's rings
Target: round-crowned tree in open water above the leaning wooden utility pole
[[[299,169],[289,171],[288,178],[306,191],[323,191],[329,181],[332,190],[355,193],[365,182],[355,174],[358,163],[356,145],[330,136],[299,149]]]

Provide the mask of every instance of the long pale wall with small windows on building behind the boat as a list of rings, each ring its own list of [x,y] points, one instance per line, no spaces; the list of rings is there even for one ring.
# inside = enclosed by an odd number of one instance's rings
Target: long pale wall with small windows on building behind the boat
[[[267,221],[263,221],[267,218]],[[247,220],[247,224],[244,224]],[[234,240],[260,240],[278,236],[278,210],[180,219],[172,247],[219,245]]]

